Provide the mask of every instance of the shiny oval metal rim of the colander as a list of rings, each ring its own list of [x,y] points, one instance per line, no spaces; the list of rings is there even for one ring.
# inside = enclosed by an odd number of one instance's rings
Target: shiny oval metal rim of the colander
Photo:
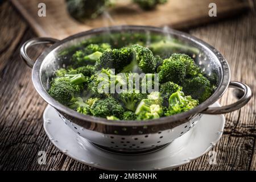
[[[100,34],[107,31],[111,32],[118,32],[118,31],[151,31],[151,32],[158,32],[161,34],[172,34],[176,36],[181,36],[183,39],[188,39],[191,42],[194,42],[198,44],[200,47],[207,49],[207,51],[212,55],[215,56],[214,59],[217,59],[220,62],[220,70],[221,70],[221,78],[220,78],[220,84],[216,88],[215,92],[210,96],[206,101],[201,103],[200,105],[196,106],[194,109],[191,109],[189,111],[186,111],[184,113],[171,115],[169,117],[162,117],[159,119],[150,119],[147,121],[110,121],[105,118],[99,118],[99,117],[93,117],[91,115],[84,115],[77,113],[75,110],[69,109],[69,107],[64,106],[54,100],[47,91],[44,89],[42,82],[40,80],[40,72],[41,72],[41,65],[43,64],[43,61],[47,57],[47,55],[54,51],[55,48],[61,46],[61,44],[65,42],[69,42],[73,39],[81,38],[82,36],[86,35],[93,35],[93,34]],[[203,40],[197,39],[192,35],[186,34],[181,31],[177,30],[163,30],[163,28],[158,27],[151,27],[151,26],[112,26],[112,27],[102,27],[102,28],[96,28],[89,31],[81,32],[79,34],[75,34],[72,36],[69,36],[68,38],[65,38],[63,40],[60,40],[59,42],[56,42],[51,47],[46,49],[39,57],[36,59],[36,62],[34,64],[34,67],[32,69],[32,81],[35,86],[36,91],[39,93],[39,95],[51,106],[55,107],[55,109],[63,111],[65,114],[71,115],[74,118],[81,119],[83,121],[90,121],[93,123],[101,123],[104,125],[110,125],[110,126],[145,126],[145,125],[158,125],[163,123],[170,123],[173,121],[181,120],[188,118],[191,115],[200,113],[201,111],[208,108],[209,105],[213,104],[224,94],[225,90],[228,88],[229,81],[230,81],[230,70],[229,65],[225,58],[221,55],[220,52],[218,52],[214,47],[210,46],[208,43],[205,43]]]

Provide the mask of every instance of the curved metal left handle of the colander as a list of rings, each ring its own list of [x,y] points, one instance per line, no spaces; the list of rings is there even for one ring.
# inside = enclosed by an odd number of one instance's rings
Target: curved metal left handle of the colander
[[[55,44],[56,42],[59,42],[59,40],[53,38],[32,38],[25,42],[20,48],[20,57],[25,61],[28,67],[33,68],[35,61],[27,55],[27,49],[36,44]]]

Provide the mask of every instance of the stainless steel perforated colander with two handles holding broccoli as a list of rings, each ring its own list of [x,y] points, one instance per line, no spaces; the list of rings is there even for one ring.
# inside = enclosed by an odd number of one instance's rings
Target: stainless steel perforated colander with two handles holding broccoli
[[[142,38],[139,39],[138,36]],[[148,121],[109,121],[104,118],[83,115],[61,105],[48,95],[49,80],[56,69],[69,64],[69,56],[85,42],[109,42],[121,46],[133,42],[135,38],[150,43],[155,39],[174,40],[175,52],[186,52],[193,56],[205,75],[214,77],[216,89],[208,100],[185,113],[152,119]],[[36,61],[27,55],[27,49],[35,44],[52,44]],[[224,57],[209,44],[180,31],[145,26],[115,26],[97,28],[69,36],[64,40],[34,38],[23,44],[20,55],[32,67],[32,80],[40,96],[55,107],[60,117],[77,133],[78,142],[87,139],[104,150],[122,154],[141,154],[158,150],[172,140],[189,131],[200,120],[201,114],[228,113],[244,106],[251,97],[250,88],[237,81],[230,81],[229,66]],[[222,106],[208,106],[216,102],[228,87],[240,89],[243,96],[236,103]]]

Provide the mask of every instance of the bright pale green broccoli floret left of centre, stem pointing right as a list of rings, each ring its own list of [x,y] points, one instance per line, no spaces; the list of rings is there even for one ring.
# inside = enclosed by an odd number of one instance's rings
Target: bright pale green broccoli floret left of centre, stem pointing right
[[[115,93],[115,86],[126,85],[126,80],[122,76],[114,75],[114,72],[111,69],[102,68],[100,72],[97,72],[96,75],[93,75],[89,83],[89,90],[96,97],[102,97],[106,94]]]

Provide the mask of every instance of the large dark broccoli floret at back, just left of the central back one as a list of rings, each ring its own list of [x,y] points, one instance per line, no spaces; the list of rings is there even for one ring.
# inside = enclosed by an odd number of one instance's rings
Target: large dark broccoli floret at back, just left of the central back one
[[[107,50],[102,53],[102,56],[96,61],[96,70],[102,68],[113,68],[115,73],[122,71],[123,67],[131,63],[133,60],[133,51],[131,48],[121,48]]]

